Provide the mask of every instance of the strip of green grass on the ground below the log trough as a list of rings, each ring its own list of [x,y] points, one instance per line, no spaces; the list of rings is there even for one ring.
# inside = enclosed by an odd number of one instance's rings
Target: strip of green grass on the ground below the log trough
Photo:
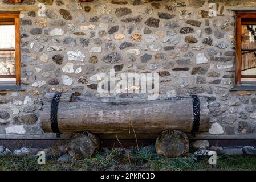
[[[197,160],[193,156],[166,158],[148,151],[112,150],[108,153],[96,152],[91,158],[57,162],[57,158],[38,165],[35,156],[0,156],[0,170],[168,170],[168,171],[208,171],[208,170],[256,170],[256,156],[218,156],[217,166],[210,166],[208,158]]]

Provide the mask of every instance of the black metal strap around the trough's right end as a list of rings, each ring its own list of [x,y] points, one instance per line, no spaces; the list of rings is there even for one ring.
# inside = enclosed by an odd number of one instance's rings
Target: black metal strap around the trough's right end
[[[193,102],[193,125],[191,133],[192,135],[197,133],[200,127],[200,100],[196,95],[192,95]]]

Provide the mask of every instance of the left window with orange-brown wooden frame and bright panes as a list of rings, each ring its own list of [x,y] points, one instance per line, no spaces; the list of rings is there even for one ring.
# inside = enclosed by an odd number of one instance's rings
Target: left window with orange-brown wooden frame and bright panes
[[[19,13],[0,13],[0,87],[21,85]]]

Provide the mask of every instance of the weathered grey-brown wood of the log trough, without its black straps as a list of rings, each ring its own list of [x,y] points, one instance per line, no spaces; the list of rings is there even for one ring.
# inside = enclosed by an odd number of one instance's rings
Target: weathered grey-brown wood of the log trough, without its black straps
[[[206,97],[200,97],[198,132],[209,129]],[[74,102],[60,102],[58,127],[63,134],[89,131],[95,134],[160,133],[166,129],[191,132],[194,107],[192,98],[181,100],[131,100],[74,96]],[[44,132],[52,132],[50,106],[44,104],[41,115]],[[133,127],[133,129],[132,129]]]

